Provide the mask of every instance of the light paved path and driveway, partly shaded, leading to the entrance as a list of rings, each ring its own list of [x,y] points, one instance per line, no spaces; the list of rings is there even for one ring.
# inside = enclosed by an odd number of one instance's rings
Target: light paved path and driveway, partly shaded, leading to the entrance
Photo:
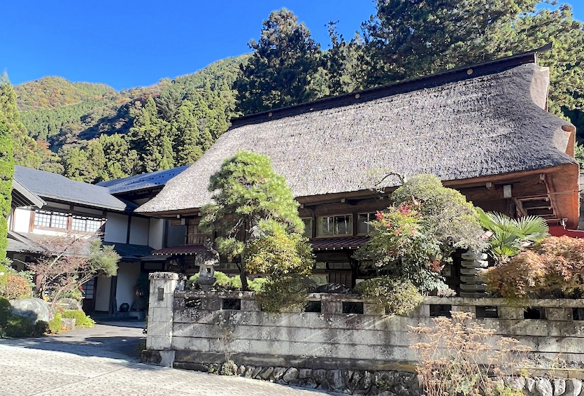
[[[143,365],[140,323],[0,340],[0,396],[324,396],[266,381]]]

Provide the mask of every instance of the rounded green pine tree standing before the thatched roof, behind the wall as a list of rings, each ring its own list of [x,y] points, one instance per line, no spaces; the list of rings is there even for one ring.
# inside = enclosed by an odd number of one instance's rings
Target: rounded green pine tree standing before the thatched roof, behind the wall
[[[305,249],[301,238],[304,222],[298,215],[298,203],[285,178],[272,170],[269,157],[249,151],[236,153],[211,176],[209,191],[215,204],[201,208],[201,227],[220,232],[222,236],[215,240],[219,252],[239,259],[244,290],[248,266],[280,275],[281,271],[305,274],[307,267],[311,268],[310,249]],[[286,252],[275,252],[274,241],[282,241]]]

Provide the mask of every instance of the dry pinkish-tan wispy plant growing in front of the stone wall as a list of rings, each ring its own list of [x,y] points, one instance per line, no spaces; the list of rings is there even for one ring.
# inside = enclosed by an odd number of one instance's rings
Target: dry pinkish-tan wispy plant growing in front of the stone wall
[[[529,348],[473,322],[473,314],[452,312],[452,318],[434,318],[434,325],[410,327],[419,342],[416,368],[425,396],[513,395],[504,376],[517,374]],[[521,395],[521,393],[518,393]]]

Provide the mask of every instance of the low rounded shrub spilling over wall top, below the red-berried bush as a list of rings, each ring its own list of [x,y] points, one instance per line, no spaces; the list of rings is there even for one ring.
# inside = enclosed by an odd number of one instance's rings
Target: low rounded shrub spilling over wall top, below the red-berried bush
[[[383,306],[386,313],[407,315],[422,303],[422,295],[411,281],[381,276],[367,279],[355,286],[369,301]]]

